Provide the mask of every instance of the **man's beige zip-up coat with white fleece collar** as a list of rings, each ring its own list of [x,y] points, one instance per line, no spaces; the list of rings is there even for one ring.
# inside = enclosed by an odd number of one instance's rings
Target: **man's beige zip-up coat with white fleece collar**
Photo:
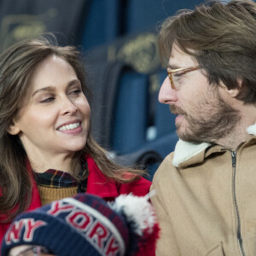
[[[157,256],[256,255],[256,137],[236,158],[218,145],[179,141],[151,189],[161,228]]]

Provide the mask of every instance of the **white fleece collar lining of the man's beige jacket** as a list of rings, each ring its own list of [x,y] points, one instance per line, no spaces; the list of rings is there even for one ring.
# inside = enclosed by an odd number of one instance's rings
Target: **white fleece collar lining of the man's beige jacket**
[[[256,123],[254,125],[247,127],[247,133],[256,136]],[[184,161],[189,160],[196,154],[201,153],[203,150],[205,150],[211,145],[211,143],[187,143],[179,139],[174,149],[172,165],[176,167],[179,166]]]

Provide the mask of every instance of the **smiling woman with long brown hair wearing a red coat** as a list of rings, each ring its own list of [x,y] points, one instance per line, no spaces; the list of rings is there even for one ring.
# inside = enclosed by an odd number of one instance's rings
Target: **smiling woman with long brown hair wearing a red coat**
[[[78,192],[146,195],[90,135],[83,62],[71,46],[26,40],[0,55],[0,241],[20,212]]]

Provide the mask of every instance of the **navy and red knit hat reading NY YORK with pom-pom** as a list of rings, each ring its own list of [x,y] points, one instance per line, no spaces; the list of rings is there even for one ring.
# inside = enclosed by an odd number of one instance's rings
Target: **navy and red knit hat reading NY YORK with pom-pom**
[[[119,195],[112,203],[79,194],[21,213],[2,242],[38,245],[58,256],[154,255],[159,226],[148,196]]]

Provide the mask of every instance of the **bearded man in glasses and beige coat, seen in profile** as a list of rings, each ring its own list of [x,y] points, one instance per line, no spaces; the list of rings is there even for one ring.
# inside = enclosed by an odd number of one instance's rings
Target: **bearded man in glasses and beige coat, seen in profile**
[[[156,255],[256,255],[256,3],[168,18],[160,52],[180,140],[154,175]]]

